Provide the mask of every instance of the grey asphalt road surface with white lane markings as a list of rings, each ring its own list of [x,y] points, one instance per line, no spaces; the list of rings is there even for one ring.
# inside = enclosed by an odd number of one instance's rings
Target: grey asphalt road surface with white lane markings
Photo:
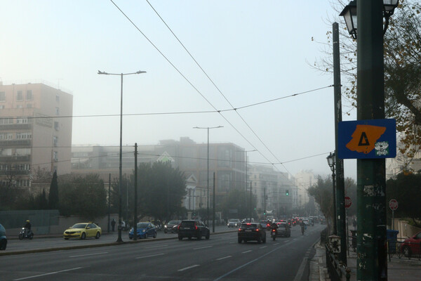
[[[231,232],[211,235],[210,240],[149,238],[111,247],[0,256],[0,279],[302,281],[308,280],[307,259],[325,227],[316,224],[301,235],[295,226],[291,237],[261,244],[239,244]]]

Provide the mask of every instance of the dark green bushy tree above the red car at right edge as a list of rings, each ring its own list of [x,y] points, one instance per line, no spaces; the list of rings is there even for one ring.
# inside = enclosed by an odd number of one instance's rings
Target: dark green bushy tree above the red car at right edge
[[[396,214],[400,217],[411,218],[414,225],[421,227],[421,174],[401,173],[396,179],[389,179],[386,182],[387,202],[395,199],[399,202],[399,209]],[[387,209],[391,213],[390,209]],[[391,214],[389,214],[391,216]]]

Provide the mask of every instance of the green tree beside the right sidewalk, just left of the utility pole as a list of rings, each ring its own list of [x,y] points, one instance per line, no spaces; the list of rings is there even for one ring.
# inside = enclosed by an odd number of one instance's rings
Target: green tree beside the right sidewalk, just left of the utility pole
[[[328,228],[333,230],[333,182],[330,176],[317,178],[317,182],[307,189],[309,195],[319,204],[320,210],[328,221]]]

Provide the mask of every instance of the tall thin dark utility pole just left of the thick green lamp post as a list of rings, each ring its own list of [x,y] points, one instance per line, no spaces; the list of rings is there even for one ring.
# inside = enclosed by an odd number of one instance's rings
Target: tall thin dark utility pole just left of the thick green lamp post
[[[340,91],[340,51],[338,22],[333,22],[333,86],[335,106],[335,175],[336,175],[336,233],[340,236],[340,261],[347,265],[347,230],[345,221],[344,160],[338,157],[338,124],[342,122],[342,99]]]

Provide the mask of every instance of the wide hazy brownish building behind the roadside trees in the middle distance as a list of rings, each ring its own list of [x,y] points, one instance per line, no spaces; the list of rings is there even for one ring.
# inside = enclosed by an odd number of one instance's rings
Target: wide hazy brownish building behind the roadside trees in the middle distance
[[[124,146],[121,168],[123,174],[134,169],[134,147]],[[187,195],[183,205],[189,209],[207,206],[208,187],[213,195],[215,172],[215,202],[226,196],[232,188],[244,188],[246,182],[245,150],[234,143],[195,143],[190,138],[180,141],[160,141],[158,145],[139,145],[138,163],[168,161],[174,168],[184,172]],[[208,169],[209,162],[209,169]],[[74,146],[72,148],[72,173],[100,174],[107,182],[119,175],[119,146]],[[208,178],[209,175],[209,178]],[[218,203],[217,203],[218,204]]]

